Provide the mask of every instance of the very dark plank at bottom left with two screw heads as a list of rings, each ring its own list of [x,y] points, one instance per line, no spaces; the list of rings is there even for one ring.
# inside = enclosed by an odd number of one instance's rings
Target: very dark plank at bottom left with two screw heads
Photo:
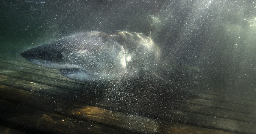
[[[4,125],[29,133],[129,133],[0,100]],[[40,127],[39,127],[40,126]]]

